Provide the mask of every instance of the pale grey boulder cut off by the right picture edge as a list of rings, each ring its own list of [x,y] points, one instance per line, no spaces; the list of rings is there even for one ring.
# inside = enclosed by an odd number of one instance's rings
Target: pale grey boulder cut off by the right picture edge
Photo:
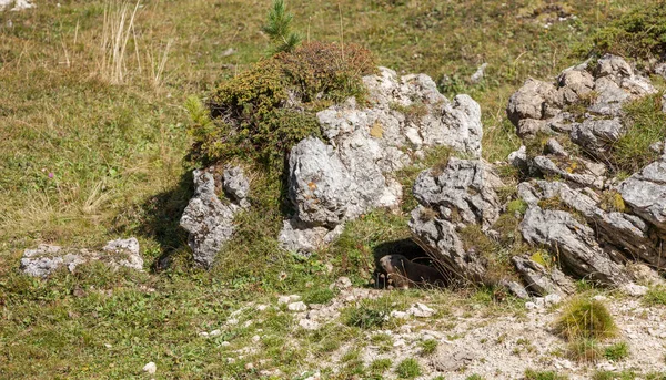
[[[636,215],[666,233],[666,156],[632,175],[618,189]]]

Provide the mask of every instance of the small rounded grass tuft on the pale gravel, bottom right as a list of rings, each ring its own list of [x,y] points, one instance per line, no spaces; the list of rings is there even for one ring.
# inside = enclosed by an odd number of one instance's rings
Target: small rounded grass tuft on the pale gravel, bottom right
[[[571,341],[608,338],[617,330],[606,306],[585,297],[574,298],[564,307],[555,328]]]

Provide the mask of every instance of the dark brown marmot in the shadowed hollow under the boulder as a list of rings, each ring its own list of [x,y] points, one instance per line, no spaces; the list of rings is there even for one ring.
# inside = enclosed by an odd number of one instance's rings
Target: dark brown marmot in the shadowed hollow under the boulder
[[[389,255],[380,259],[380,265],[393,280],[396,288],[407,289],[410,285],[431,284],[444,286],[447,280],[436,268],[410,261],[402,255]]]

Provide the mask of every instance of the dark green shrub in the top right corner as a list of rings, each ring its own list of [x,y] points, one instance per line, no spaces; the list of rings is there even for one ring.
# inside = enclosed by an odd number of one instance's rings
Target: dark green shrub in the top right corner
[[[666,1],[640,3],[632,11],[599,29],[586,53],[615,53],[637,59],[666,54]]]

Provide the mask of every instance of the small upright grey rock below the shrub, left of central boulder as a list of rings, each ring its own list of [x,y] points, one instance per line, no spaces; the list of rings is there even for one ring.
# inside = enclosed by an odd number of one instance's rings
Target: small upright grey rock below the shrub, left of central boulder
[[[215,181],[218,176],[218,181]],[[215,256],[224,244],[231,239],[236,213],[246,207],[249,183],[240,167],[228,167],[222,175],[215,168],[196,170],[193,173],[194,196],[185,207],[180,220],[189,234],[188,245],[192,249],[194,263],[211,268]],[[215,182],[222,184],[216,188]],[[218,194],[228,191],[228,202],[222,202]]]

